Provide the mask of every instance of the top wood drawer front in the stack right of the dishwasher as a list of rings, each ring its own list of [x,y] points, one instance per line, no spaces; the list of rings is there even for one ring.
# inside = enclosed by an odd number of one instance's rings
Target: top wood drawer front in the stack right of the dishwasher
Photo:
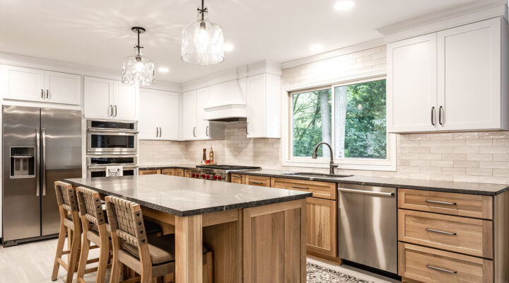
[[[487,195],[398,189],[398,207],[423,212],[493,219],[493,197]]]

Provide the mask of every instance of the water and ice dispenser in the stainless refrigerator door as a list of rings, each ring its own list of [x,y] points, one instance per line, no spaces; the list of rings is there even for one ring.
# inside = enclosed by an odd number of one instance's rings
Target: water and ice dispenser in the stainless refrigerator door
[[[35,175],[35,147],[11,147],[11,177]]]

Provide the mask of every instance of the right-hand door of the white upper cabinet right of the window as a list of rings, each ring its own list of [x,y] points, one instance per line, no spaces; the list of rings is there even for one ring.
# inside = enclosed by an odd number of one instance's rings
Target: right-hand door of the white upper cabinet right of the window
[[[438,32],[438,129],[502,128],[501,28],[493,18]]]

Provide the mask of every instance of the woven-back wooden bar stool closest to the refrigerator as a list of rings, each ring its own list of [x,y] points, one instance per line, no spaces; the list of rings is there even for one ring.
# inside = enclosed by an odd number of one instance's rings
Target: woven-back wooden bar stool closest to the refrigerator
[[[76,202],[76,192],[71,184],[57,181],[54,183],[57,194],[57,203],[60,214],[60,230],[57,242],[57,253],[55,254],[52,281],[57,280],[59,267],[64,267],[67,271],[66,282],[71,283],[74,270],[76,269],[76,260],[80,248],[81,223],[78,216],[78,203]],[[69,232],[69,250],[64,250],[66,230]],[[62,255],[68,255],[67,262],[62,260]]]

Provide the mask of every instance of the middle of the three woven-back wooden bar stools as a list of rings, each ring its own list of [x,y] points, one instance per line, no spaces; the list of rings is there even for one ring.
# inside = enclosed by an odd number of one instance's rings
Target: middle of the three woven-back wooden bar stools
[[[95,282],[103,283],[111,250],[110,236],[108,235],[110,229],[106,225],[103,204],[101,204],[99,192],[86,187],[76,187],[76,197],[78,197],[79,214],[83,226],[83,243],[81,244],[76,282],[86,283],[83,276],[86,273],[97,271]],[[90,242],[100,248],[99,258],[88,260],[88,251],[93,248],[93,246],[90,247]],[[86,269],[88,263],[97,261],[97,267]]]

